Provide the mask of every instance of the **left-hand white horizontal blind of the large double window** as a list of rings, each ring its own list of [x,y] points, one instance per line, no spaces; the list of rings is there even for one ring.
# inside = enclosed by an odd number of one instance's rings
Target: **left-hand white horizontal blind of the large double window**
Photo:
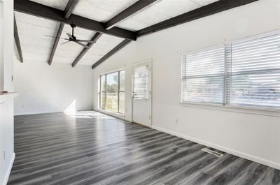
[[[222,104],[224,63],[224,45],[193,54],[184,54],[181,100]]]

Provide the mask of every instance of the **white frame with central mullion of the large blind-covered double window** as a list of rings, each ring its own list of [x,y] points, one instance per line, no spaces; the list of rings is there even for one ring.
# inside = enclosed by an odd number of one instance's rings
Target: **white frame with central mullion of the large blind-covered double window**
[[[258,38],[262,38],[265,36],[271,36],[274,34],[280,34],[280,30],[274,30],[274,31],[267,31],[265,33],[262,34],[256,34],[253,36],[246,36],[244,38],[240,38],[237,40],[230,40],[230,41],[226,41],[223,43],[223,45],[225,46],[225,61],[224,61],[224,80],[223,80],[223,104],[216,104],[216,103],[204,103],[204,102],[193,102],[193,101],[183,101],[183,57],[184,55],[188,55],[188,54],[193,54],[196,52],[203,52],[205,50],[211,50],[215,47],[221,46],[220,45],[212,45],[209,47],[204,47],[200,50],[193,50],[191,52],[184,52],[181,54],[181,76],[180,76],[180,80],[181,80],[181,105],[186,105],[189,107],[195,107],[195,108],[210,108],[210,109],[214,109],[214,110],[228,110],[228,111],[233,111],[233,112],[246,112],[246,113],[253,113],[253,114],[264,114],[264,115],[272,115],[272,116],[276,116],[276,117],[280,117],[280,108],[276,108],[276,107],[266,107],[266,106],[261,106],[261,105],[230,105],[230,103],[228,103],[228,98],[227,98],[227,94],[228,94],[228,85],[229,83],[227,82],[228,80],[228,76],[231,75],[231,72],[228,71],[228,64],[231,64],[231,54],[232,54],[232,43],[235,42],[242,42],[242,41],[246,41],[246,40],[253,40],[253,39],[258,39]],[[230,46],[230,55],[227,53],[227,47]],[[228,62],[227,57],[230,57],[230,62]]]

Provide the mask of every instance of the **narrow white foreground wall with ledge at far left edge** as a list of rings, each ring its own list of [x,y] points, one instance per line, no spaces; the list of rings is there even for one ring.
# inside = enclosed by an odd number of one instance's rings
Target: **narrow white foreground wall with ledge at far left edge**
[[[13,91],[13,1],[0,0],[0,91]],[[13,96],[0,94],[0,184],[13,166]]]

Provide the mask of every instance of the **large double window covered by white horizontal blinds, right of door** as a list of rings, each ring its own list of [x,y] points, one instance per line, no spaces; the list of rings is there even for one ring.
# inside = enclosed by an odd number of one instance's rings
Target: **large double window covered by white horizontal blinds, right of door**
[[[183,54],[183,102],[280,108],[280,34]]]

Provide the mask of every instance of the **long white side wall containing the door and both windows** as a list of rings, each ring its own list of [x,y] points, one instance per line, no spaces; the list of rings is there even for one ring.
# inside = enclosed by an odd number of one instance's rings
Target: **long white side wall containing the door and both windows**
[[[125,68],[125,119],[130,120],[132,64],[152,59],[153,128],[280,169],[277,114],[179,103],[183,52],[279,28],[280,1],[260,0],[139,38],[94,69],[94,110],[99,74]]]

